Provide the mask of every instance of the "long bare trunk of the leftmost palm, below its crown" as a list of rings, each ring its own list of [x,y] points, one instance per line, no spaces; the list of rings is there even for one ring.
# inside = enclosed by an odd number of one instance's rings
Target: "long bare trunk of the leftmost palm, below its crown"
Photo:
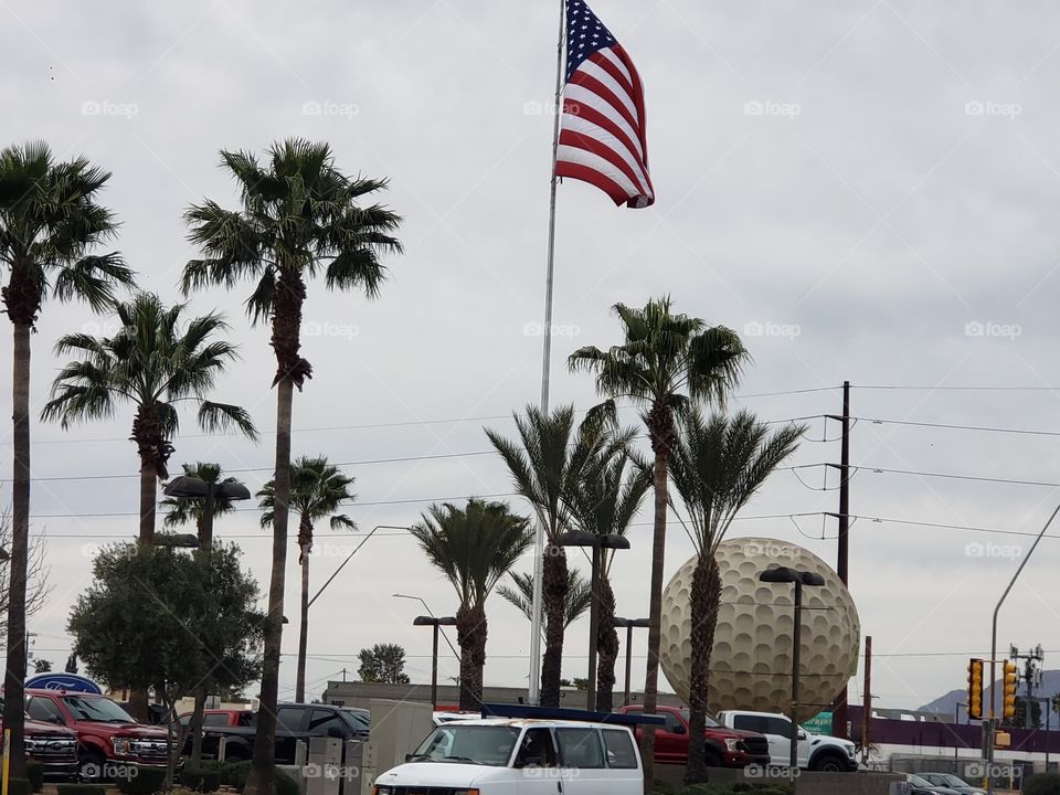
[[[14,321],[11,402],[14,473],[11,490],[8,659],[3,678],[3,727],[11,730],[9,770],[13,778],[25,777],[22,682],[25,681],[25,580],[30,538],[30,330],[31,324]]]

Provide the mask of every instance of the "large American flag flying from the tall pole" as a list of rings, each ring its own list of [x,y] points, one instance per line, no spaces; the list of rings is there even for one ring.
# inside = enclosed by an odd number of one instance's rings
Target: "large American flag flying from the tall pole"
[[[584,0],[566,0],[566,85],[555,176],[600,188],[615,204],[655,202],[644,88],[633,61]]]

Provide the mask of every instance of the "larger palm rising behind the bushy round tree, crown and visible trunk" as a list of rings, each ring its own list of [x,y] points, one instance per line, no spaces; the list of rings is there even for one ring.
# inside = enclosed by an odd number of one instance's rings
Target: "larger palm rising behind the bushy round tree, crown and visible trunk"
[[[55,343],[60,356],[84,359],[66,364],[52,384],[41,416],[71,423],[106,420],[119,403],[136,407],[131,439],[140,458],[140,542],[155,539],[158,480],[169,477],[172,439],[180,430],[181,403],[198,404],[199,426],[208,432],[235,428],[257,438],[244,409],[206,400],[225,368],[239,358],[236,347],[218,336],[227,330],[216,312],[182,324],[186,305],[167,307],[158,296],[140,293],[115,305],[119,328],[113,337],[66,335]]]

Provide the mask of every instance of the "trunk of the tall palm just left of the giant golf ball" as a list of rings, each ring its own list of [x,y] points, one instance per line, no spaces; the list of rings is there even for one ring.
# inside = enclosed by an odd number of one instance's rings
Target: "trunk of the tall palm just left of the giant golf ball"
[[[659,697],[659,644],[662,639],[662,565],[666,560],[667,459],[674,444],[674,423],[669,409],[659,403],[648,417],[651,449],[655,453],[653,487],[655,489],[655,530],[651,539],[651,590],[648,606],[648,659],[644,677],[644,711],[655,712]],[[640,734],[644,764],[644,792],[655,786],[655,727],[645,725]]]

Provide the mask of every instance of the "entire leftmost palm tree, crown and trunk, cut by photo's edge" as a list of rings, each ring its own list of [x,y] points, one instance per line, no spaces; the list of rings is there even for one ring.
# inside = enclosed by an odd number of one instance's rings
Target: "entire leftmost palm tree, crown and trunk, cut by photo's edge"
[[[116,253],[93,254],[117,222],[98,195],[110,174],[86,159],[59,162],[43,141],[0,151],[0,266],[3,308],[13,330],[11,561],[3,725],[11,730],[11,775],[25,776],[22,682],[25,680],[25,583],[30,534],[30,333],[44,299],[109,306],[134,274]]]

